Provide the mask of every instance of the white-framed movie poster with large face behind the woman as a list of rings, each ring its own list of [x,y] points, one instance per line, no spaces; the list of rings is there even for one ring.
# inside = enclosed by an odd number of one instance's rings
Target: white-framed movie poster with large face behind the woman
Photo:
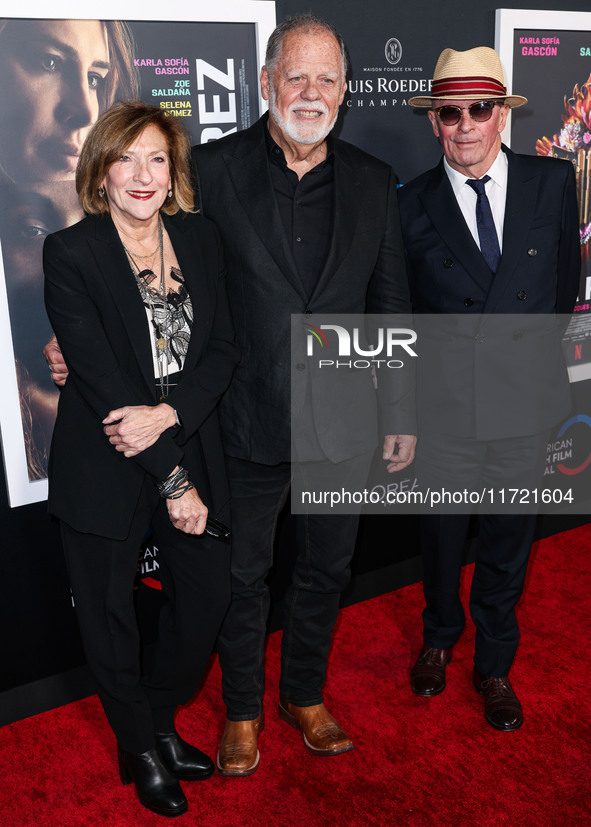
[[[91,126],[115,101],[141,99],[205,143],[262,113],[260,50],[275,4],[200,6],[177,2],[165,20],[150,3],[125,21],[72,20],[59,17],[57,3],[52,19],[33,9],[0,20],[0,428],[11,507],[47,497],[59,391],[42,354],[52,335],[42,248],[49,233],[83,217],[74,176]]]

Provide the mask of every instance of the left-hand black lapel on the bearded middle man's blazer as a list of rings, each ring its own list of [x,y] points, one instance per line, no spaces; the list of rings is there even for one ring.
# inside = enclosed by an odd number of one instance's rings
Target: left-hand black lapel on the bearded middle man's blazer
[[[257,124],[266,129],[266,120]],[[281,216],[275,201],[267,144],[259,130],[246,130],[235,152],[224,154],[224,163],[234,190],[257,235],[292,286],[306,297],[295,261],[285,238]]]

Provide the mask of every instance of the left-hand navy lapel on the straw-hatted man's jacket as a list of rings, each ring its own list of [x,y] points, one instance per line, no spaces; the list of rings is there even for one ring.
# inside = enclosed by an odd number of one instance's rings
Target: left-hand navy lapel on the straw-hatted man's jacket
[[[425,212],[449,248],[452,258],[461,262],[468,276],[488,290],[491,273],[468,229],[445,172],[443,160],[433,170],[429,185],[421,195]]]

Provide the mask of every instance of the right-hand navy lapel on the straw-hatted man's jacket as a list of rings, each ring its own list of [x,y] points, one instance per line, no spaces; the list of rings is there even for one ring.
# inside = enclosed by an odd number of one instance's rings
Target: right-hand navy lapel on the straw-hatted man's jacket
[[[492,283],[484,311],[494,312],[513,279],[520,248],[532,222],[537,203],[539,178],[536,173],[524,174],[519,158],[503,147],[509,162],[507,199],[503,222],[503,255]]]

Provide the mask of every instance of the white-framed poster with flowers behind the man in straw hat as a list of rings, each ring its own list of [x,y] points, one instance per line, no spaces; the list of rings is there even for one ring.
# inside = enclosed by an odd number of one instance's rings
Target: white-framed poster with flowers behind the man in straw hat
[[[591,13],[497,12],[496,44],[510,89],[515,152],[563,158],[577,179],[581,283],[564,345],[572,382],[591,378]]]

